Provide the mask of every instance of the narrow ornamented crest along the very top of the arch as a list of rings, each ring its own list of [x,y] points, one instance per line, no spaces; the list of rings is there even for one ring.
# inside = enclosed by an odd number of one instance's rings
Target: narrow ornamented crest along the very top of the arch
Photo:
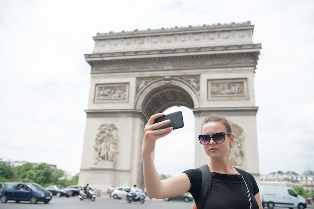
[[[188,27],[171,27],[171,28],[161,28],[161,29],[147,29],[147,30],[138,30],[135,29],[133,31],[121,31],[121,32],[113,32],[110,31],[108,33],[97,33],[94,38],[96,39],[101,39],[104,37],[117,37],[117,36],[134,36],[134,35],[147,35],[147,34],[165,34],[165,33],[189,33],[189,32],[194,32],[194,31],[208,31],[208,30],[230,30],[230,28],[254,28],[254,25],[251,25],[250,21],[243,22],[243,23],[225,23],[225,24],[212,24],[212,25],[202,25],[202,26],[188,26]]]

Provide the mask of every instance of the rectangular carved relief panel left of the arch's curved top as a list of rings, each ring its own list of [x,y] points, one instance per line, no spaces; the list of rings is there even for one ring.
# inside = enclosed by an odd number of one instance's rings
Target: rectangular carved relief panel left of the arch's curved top
[[[128,102],[129,84],[96,84],[94,102]]]

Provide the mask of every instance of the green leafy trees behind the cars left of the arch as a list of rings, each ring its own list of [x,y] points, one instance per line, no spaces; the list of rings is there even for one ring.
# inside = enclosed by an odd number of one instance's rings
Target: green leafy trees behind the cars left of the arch
[[[68,174],[58,169],[52,171],[46,163],[40,163],[33,166],[32,163],[24,163],[17,167],[10,167],[4,163],[0,163],[0,182],[35,182],[42,186],[47,185],[77,185],[79,173],[71,179]]]

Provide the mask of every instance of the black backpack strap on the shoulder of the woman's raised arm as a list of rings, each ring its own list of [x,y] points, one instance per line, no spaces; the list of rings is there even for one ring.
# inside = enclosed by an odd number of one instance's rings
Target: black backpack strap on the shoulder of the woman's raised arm
[[[209,192],[212,187],[212,175],[207,164],[202,165],[201,167],[199,167],[199,169],[202,171],[202,184],[199,200],[197,202],[197,208],[204,209]]]

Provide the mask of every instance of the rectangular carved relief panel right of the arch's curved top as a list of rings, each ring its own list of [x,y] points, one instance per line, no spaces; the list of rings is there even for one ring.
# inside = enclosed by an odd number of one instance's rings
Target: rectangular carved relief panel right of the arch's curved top
[[[248,99],[246,79],[208,80],[207,99]]]

